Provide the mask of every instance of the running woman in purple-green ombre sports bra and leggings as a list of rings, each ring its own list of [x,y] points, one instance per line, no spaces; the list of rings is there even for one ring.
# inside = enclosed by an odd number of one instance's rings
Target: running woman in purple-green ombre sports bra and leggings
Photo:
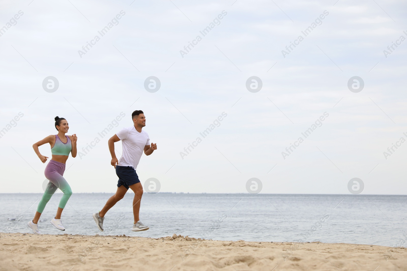
[[[38,147],[50,143],[52,153],[52,158],[44,172],[45,177],[49,180],[48,185],[38,204],[34,219],[27,223],[34,234],[41,234],[41,232],[38,231],[38,219],[42,211],[44,211],[45,205],[58,188],[63,192],[63,196],[59,202],[57,215],[51,220],[51,224],[58,230],[65,230],[61,222],[61,213],[69,197],[72,195],[71,187],[62,176],[63,171],[65,171],[65,163],[66,160],[68,160],[69,153],[71,153],[72,157],[77,155],[77,136],[76,134],[72,134],[72,136],[65,135],[68,132],[69,126],[68,121],[64,118],[55,117],[55,128],[58,130],[58,134],[50,135],[33,145],[33,149],[42,163],[45,163],[48,157],[40,154]]]

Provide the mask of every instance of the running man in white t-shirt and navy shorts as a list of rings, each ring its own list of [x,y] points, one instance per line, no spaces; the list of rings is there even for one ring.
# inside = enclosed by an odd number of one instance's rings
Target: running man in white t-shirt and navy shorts
[[[109,151],[112,155],[112,166],[116,169],[116,175],[119,177],[117,184],[117,191],[110,197],[105,207],[99,212],[93,214],[93,219],[96,221],[99,230],[103,231],[103,220],[105,219],[106,212],[116,204],[120,199],[123,199],[127,190],[131,188],[134,192],[133,199],[133,214],[134,225],[132,231],[148,230],[149,227],[141,223],[138,213],[140,210],[140,200],[143,195],[143,187],[138,180],[136,168],[140,157],[143,153],[150,155],[154,150],[157,150],[157,144],[151,143],[147,132],[141,129],[146,126],[146,117],[143,111],[136,110],[131,114],[133,119],[133,126],[123,128],[113,137],[109,139]],[[114,143],[121,140],[123,146],[123,154],[120,160],[117,160],[114,153]]]

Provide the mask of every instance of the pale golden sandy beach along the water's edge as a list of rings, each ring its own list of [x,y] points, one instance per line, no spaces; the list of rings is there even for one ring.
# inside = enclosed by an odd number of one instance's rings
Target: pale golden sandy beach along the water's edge
[[[15,233],[1,234],[0,245],[0,271],[407,269],[407,249],[343,243]]]

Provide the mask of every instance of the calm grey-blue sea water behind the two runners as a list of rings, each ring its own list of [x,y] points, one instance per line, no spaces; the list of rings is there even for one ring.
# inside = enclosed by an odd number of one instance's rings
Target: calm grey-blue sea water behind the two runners
[[[276,195],[144,193],[140,220],[150,227],[132,232],[133,196],[127,193],[107,212],[105,231],[94,212],[109,193],[74,193],[62,213],[65,231],[50,220],[62,194],[48,202],[38,223],[43,234],[105,234],[165,237],[173,234],[213,240],[301,241],[398,246],[407,240],[405,195]],[[32,231],[42,194],[0,194],[0,232]]]

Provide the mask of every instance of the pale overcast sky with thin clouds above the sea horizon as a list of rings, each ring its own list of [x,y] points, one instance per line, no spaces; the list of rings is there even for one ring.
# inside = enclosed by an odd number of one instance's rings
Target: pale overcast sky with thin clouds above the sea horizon
[[[116,191],[107,140],[132,125],[134,110],[158,146],[138,175],[143,185],[157,178],[160,192],[247,193],[258,178],[260,193],[350,194],[348,182],[360,178],[363,194],[407,193],[407,143],[387,151],[407,139],[405,1],[0,3],[1,193],[43,192],[46,164],[32,145],[56,134],[55,116],[68,120],[83,154],[67,161],[73,193]],[[43,88],[48,76],[54,92]],[[144,88],[150,76],[156,92]],[[251,76],[260,91],[247,89]],[[353,76],[360,92],[348,88]],[[206,128],[214,129],[204,138]],[[51,156],[48,145],[40,152]]]

